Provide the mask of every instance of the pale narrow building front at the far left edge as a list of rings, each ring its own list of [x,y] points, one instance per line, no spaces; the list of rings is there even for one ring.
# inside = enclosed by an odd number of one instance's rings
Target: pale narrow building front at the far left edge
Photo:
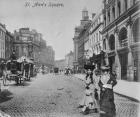
[[[0,60],[5,59],[5,37],[6,37],[5,25],[0,23]]]

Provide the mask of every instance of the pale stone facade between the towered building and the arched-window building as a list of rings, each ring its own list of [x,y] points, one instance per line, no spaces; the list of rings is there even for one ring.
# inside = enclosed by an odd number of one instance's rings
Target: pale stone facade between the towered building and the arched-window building
[[[97,14],[92,18],[89,29],[88,40],[88,56],[92,57],[93,53],[98,55],[103,49],[102,32],[103,30],[103,14]]]

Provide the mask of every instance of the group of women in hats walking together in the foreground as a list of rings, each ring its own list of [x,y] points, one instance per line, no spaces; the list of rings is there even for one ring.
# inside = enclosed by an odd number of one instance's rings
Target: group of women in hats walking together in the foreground
[[[110,72],[108,66],[102,66],[100,71],[94,65],[86,65],[85,93],[78,108],[83,114],[91,111],[100,113],[103,117],[114,117],[116,108],[113,87],[117,84],[116,75]]]

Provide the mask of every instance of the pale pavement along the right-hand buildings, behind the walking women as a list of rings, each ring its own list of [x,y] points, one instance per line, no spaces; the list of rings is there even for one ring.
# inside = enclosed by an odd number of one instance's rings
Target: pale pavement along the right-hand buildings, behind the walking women
[[[85,74],[75,74],[74,77],[83,80]],[[140,102],[140,82],[130,82],[125,80],[117,80],[117,82],[117,85],[114,87],[115,93]]]

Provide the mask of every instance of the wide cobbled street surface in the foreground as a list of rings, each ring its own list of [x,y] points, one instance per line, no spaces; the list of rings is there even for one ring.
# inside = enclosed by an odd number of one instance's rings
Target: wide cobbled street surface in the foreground
[[[72,76],[38,74],[24,86],[10,84],[1,97],[0,110],[11,117],[99,117],[77,109],[84,84]],[[138,117],[138,103],[115,94],[116,117]]]

